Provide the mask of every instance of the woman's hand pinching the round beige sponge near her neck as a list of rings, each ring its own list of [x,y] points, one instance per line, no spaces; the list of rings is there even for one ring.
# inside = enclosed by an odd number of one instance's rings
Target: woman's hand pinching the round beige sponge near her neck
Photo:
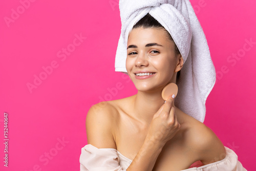
[[[172,106],[174,98],[169,96],[157,113],[153,116],[146,139],[161,146],[172,139],[180,129],[180,123]]]

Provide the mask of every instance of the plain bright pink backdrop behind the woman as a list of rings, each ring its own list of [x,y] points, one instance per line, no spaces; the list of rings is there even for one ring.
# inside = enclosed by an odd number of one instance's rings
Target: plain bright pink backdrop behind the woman
[[[90,106],[137,92],[129,77],[114,71],[118,0],[33,1],[0,4],[0,170],[79,170]],[[246,169],[254,170],[256,1],[190,2],[218,73],[204,123]],[[34,76],[44,80],[30,91]],[[4,112],[9,115],[8,168]]]

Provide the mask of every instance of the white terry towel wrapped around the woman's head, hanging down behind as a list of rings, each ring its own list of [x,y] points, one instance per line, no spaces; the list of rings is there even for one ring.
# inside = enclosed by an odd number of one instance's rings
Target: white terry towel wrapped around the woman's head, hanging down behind
[[[175,105],[203,122],[205,101],[216,81],[203,29],[188,0],[120,0],[121,35],[115,59],[115,71],[127,72],[127,39],[133,26],[147,13],[172,35],[184,65],[177,82]]]

